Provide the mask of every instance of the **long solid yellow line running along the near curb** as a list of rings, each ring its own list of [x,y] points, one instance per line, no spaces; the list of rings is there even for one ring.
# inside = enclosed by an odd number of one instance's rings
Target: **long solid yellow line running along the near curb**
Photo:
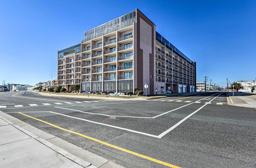
[[[71,131],[71,130],[68,130],[68,129],[59,127],[59,126],[57,126],[57,125],[48,123],[48,122],[46,122],[46,121],[44,121],[44,120],[40,120],[40,119],[34,118],[34,117],[32,117],[32,116],[29,116],[29,115],[25,115],[25,114],[20,113],[20,112],[18,112],[18,113],[21,114],[21,115],[27,116],[27,117],[29,117],[29,118],[35,119],[35,120],[37,120],[37,121],[43,122],[43,123],[45,123],[45,124],[51,125],[51,126],[53,126],[53,127],[55,127],[55,128],[61,129],[61,130],[63,130],[63,131],[71,132],[71,133],[77,134],[77,135],[79,135],[79,136],[86,137],[86,138],[88,138],[88,139],[91,139],[92,141],[95,141],[95,142],[98,142],[98,143],[100,143],[100,144],[103,144],[103,145],[106,145],[106,146],[109,146],[109,147],[118,149],[118,150],[120,150],[120,151],[123,151],[123,152],[126,152],[126,153],[130,153],[130,154],[132,154],[132,155],[135,155],[135,156],[138,156],[138,157],[142,157],[142,158],[144,158],[144,159],[151,160],[151,161],[157,162],[157,163],[159,163],[159,164],[166,165],[166,166],[168,166],[168,167],[179,168],[179,166],[176,166],[176,165],[173,165],[173,164],[170,164],[170,163],[166,163],[166,162],[164,162],[164,161],[157,160],[157,159],[154,159],[154,158],[152,158],[152,157],[148,157],[148,156],[145,156],[145,155],[142,155],[142,154],[133,152],[133,151],[129,151],[129,150],[127,150],[127,149],[120,148],[120,147],[115,146],[115,145],[111,145],[111,144],[109,144],[109,143],[105,143],[105,142],[103,142],[103,141],[100,141],[99,139],[96,139],[96,138],[93,138],[93,137],[90,137],[90,136],[87,136],[87,135],[84,135],[84,134],[81,134],[81,133],[78,133],[78,132],[75,132],[75,131]]]

